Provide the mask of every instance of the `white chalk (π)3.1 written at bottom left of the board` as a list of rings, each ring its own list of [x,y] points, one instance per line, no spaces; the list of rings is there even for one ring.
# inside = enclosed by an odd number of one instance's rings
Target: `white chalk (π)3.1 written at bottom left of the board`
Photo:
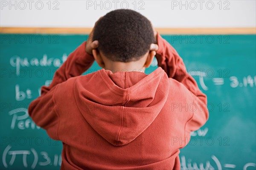
[[[14,164],[23,165],[23,167],[30,167],[31,169],[35,169],[37,165],[39,166],[61,166],[61,154],[54,154],[53,157],[50,157],[47,152],[41,151],[38,153],[34,148],[30,148],[30,150],[11,150],[12,146],[8,145],[2,155],[3,166],[6,168],[12,167]],[[16,159],[18,156],[21,156],[22,159]],[[32,164],[28,164],[28,157],[31,160]],[[22,161],[21,161],[22,160]],[[42,160],[42,161],[39,161]],[[20,162],[21,161],[21,162]]]

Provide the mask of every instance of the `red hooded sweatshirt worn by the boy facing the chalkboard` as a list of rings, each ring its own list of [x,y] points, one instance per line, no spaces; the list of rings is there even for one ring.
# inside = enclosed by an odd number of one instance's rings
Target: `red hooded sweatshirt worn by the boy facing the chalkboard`
[[[178,170],[180,148],[208,119],[207,97],[175,49],[157,35],[151,74],[101,69],[83,42],[29,105],[49,137],[63,142],[62,170]]]

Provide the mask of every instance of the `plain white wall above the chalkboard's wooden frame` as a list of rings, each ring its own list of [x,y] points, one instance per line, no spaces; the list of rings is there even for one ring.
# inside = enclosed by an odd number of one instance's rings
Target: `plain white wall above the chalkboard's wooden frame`
[[[0,0],[0,26],[93,27],[100,16],[127,4],[160,28],[256,27],[256,0]]]

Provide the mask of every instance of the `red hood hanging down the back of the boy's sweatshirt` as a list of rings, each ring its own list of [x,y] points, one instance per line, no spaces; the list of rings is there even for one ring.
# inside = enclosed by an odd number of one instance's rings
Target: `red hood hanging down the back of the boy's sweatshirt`
[[[160,67],[148,75],[101,69],[77,78],[74,94],[84,121],[111,144],[122,146],[154,122],[166,103],[169,78]]]

